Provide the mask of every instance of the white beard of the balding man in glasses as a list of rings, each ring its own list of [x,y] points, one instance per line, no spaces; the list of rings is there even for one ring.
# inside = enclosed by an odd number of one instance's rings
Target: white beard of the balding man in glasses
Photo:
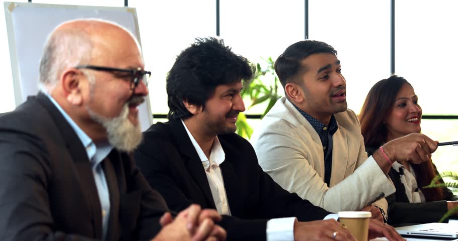
[[[88,107],[89,115],[107,131],[108,142],[116,149],[124,152],[132,152],[142,140],[140,125],[135,126],[129,121],[128,104],[124,104],[121,113],[111,119],[92,111]]]

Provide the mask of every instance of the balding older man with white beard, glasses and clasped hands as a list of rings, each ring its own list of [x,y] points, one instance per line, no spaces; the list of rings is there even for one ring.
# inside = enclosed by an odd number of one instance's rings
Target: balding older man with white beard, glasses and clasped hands
[[[147,74],[116,24],[74,20],[51,33],[42,91],[0,117],[0,240],[225,238],[216,211],[192,205],[173,219],[129,155]]]

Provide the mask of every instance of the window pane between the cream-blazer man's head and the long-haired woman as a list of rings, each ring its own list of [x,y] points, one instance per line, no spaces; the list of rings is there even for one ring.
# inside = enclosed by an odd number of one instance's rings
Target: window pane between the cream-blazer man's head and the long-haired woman
[[[356,113],[372,85],[390,77],[389,1],[310,0],[309,39],[337,50]]]

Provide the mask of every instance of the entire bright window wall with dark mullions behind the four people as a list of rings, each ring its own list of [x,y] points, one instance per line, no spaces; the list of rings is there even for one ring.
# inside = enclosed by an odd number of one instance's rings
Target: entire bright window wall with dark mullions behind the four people
[[[5,1],[3,1],[5,2]],[[17,1],[27,2],[27,1]],[[122,7],[122,0],[42,0],[34,3]],[[166,76],[176,56],[196,37],[216,35],[215,0],[130,0],[136,8],[149,84],[152,113],[168,112]],[[452,69],[458,54],[453,0],[396,1],[396,74],[415,88],[423,114],[458,115],[458,80]],[[338,51],[347,80],[348,107],[359,113],[370,87],[390,76],[390,1],[309,0],[309,39]],[[191,11],[190,11],[191,10]],[[4,11],[0,14],[0,113],[15,108]],[[276,59],[287,46],[304,39],[303,0],[220,0],[220,37],[253,63]],[[445,30],[444,30],[445,29]],[[446,67],[445,67],[446,66]],[[257,105],[247,113],[260,114]],[[164,119],[155,118],[155,122]],[[250,119],[250,124],[257,120]],[[458,120],[424,119],[422,132],[440,142],[456,141]],[[439,171],[456,170],[458,148],[439,147],[433,155]]]

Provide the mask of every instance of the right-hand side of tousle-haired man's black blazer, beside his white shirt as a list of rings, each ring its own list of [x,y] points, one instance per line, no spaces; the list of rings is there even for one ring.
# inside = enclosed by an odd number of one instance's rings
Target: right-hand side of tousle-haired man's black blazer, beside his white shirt
[[[259,166],[256,153],[247,140],[237,134],[219,135],[218,138],[225,153],[220,168],[233,215],[265,219],[297,217],[299,221],[312,221],[330,214],[278,185]]]

